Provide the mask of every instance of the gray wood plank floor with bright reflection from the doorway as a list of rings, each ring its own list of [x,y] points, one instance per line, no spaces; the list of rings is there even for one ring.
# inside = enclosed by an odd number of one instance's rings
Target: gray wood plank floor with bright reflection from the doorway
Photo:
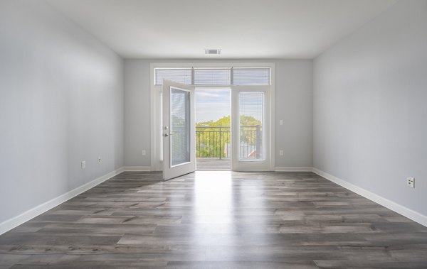
[[[123,172],[0,236],[4,268],[427,268],[427,228],[312,172]]]

